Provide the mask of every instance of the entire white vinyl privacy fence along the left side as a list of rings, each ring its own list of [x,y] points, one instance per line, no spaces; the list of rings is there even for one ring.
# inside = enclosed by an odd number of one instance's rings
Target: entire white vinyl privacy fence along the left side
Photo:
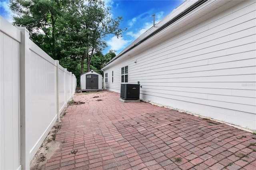
[[[27,170],[72,100],[74,74],[0,16],[0,169]]]

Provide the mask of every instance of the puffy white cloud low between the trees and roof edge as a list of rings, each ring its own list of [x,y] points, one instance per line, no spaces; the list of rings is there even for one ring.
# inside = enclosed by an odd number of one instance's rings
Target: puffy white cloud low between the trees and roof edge
[[[117,38],[116,36],[114,36],[107,43],[110,49],[119,51],[120,49],[124,49],[129,42],[129,40],[124,40],[123,37]]]

